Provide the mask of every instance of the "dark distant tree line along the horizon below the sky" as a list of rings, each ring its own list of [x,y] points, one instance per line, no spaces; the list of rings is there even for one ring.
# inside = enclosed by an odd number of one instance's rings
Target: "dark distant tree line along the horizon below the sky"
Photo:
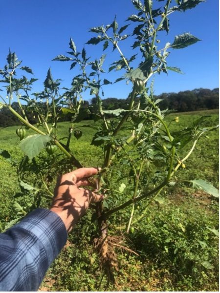
[[[180,91],[178,93],[162,93],[155,96],[155,99],[160,99],[160,108],[162,110],[168,108],[177,112],[197,111],[205,109],[218,109],[219,108],[219,88],[213,90],[206,88],[197,88],[194,90]],[[102,105],[105,110],[114,110],[117,108],[127,109],[128,99],[107,98],[102,100]],[[45,103],[38,103],[39,107],[42,107],[46,111]],[[12,107],[21,113],[19,104],[17,102],[12,103]],[[23,106],[25,108],[25,106]],[[91,114],[85,116],[85,119],[92,119],[94,107],[96,107],[96,99],[91,99],[90,103],[84,101],[83,108],[89,109]],[[37,123],[38,120],[33,111],[25,110],[26,116],[30,123]],[[61,121],[70,121],[72,114],[63,115],[60,118]],[[17,118],[11,114],[11,112],[3,107],[0,110],[0,127],[18,125]]]

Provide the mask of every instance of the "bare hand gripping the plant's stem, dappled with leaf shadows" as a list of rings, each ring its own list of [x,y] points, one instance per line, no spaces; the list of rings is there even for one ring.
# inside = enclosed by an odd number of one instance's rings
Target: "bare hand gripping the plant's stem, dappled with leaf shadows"
[[[50,210],[61,217],[67,232],[85,214],[89,203],[96,203],[104,198],[91,190],[80,188],[91,186],[88,177],[97,173],[97,168],[79,168],[58,178]]]

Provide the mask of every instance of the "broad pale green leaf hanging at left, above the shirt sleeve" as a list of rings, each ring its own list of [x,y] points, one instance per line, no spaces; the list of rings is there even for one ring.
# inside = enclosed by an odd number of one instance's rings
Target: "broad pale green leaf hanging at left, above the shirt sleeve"
[[[51,141],[51,137],[48,135],[34,134],[29,135],[20,143],[22,151],[30,160],[37,156],[40,151],[46,146],[46,144]]]

